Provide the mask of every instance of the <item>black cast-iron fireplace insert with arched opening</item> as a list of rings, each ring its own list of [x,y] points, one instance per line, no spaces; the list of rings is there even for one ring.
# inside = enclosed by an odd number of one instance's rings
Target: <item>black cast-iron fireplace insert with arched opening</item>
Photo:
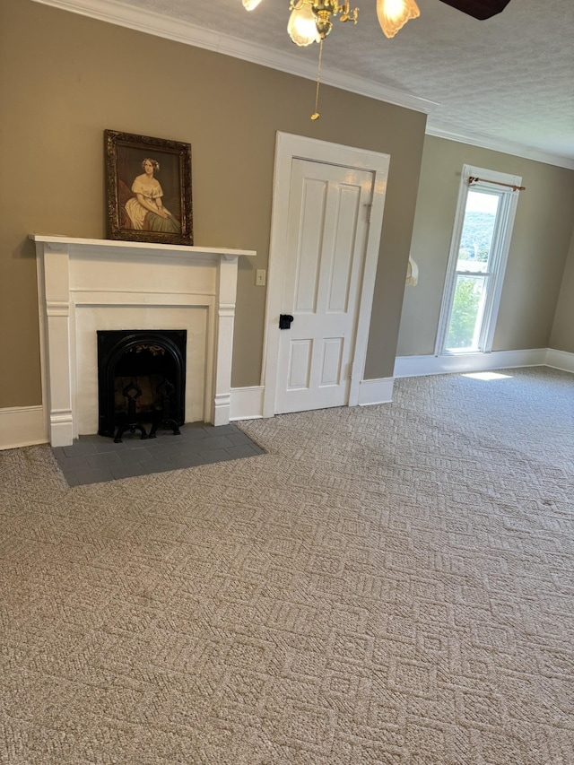
[[[98,331],[100,436],[155,438],[185,422],[187,330]],[[148,430],[149,429],[149,430]]]

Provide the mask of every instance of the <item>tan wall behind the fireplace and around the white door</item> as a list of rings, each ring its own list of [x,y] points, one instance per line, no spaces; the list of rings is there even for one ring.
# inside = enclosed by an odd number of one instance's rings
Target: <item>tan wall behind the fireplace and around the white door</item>
[[[391,155],[367,376],[392,375],[426,117],[65,13],[0,4],[0,408],[40,403],[29,233],[105,237],[105,128],[192,145],[196,244],[257,250],[239,266],[235,387],[260,382],[276,131]],[[4,368],[5,369],[5,368]]]

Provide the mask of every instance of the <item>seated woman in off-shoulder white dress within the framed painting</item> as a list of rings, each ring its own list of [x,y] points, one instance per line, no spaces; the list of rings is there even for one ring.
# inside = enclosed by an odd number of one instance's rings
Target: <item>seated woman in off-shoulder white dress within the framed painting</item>
[[[160,170],[160,163],[146,157],[142,167],[142,175],[136,176],[132,184],[132,192],[135,196],[126,202],[126,213],[130,217],[133,228],[170,234],[181,233],[181,224],[168,208],[163,206],[161,201],[163,189],[160,182],[153,177],[154,172]]]

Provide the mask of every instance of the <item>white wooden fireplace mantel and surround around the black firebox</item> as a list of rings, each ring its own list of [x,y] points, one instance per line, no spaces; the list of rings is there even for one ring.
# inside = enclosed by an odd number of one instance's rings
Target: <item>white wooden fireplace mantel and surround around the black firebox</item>
[[[31,234],[48,439],[98,427],[98,329],[187,329],[186,422],[230,419],[239,256],[253,250]]]

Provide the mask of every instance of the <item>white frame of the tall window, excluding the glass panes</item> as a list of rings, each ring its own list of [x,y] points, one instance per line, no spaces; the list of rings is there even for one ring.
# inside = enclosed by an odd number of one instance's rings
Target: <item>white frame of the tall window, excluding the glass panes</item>
[[[469,178],[486,178],[469,184]],[[488,181],[495,181],[489,183]],[[508,186],[499,186],[499,184],[508,184]],[[507,260],[509,257],[510,239],[514,226],[514,219],[517,211],[518,191],[513,191],[512,187],[519,187],[522,184],[522,178],[508,173],[501,173],[496,170],[487,170],[477,168],[473,165],[464,165],[460,187],[458,190],[457,214],[455,217],[455,227],[450,243],[450,252],[448,255],[447,276],[445,280],[445,289],[442,296],[440,307],[439,328],[437,332],[437,343],[435,346],[436,356],[460,356],[465,353],[490,353],[492,342],[494,340],[494,330],[500,308],[500,296],[502,294],[502,283],[506,271]],[[478,339],[478,349],[447,351],[445,343],[447,342],[448,326],[450,323],[450,314],[452,311],[453,300],[455,296],[455,286],[457,283],[457,263],[458,251],[460,248],[460,239],[462,237],[463,225],[465,222],[466,197],[469,190],[490,191],[500,196],[500,204],[497,214],[497,220],[494,227],[491,258],[489,259],[489,271],[486,274],[488,283],[485,286],[486,296],[483,307],[482,326]],[[476,274],[480,275],[480,274]]]

